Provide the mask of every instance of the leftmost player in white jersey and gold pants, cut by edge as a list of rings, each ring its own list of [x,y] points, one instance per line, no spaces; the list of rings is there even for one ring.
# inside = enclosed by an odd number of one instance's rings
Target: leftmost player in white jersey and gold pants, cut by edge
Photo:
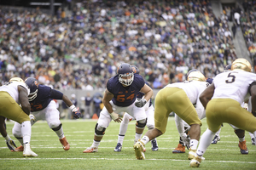
[[[21,124],[20,128],[24,144],[24,157],[38,156],[31,150],[30,147],[31,122],[29,118],[29,93],[30,89],[26,86],[26,83],[19,77],[11,78],[8,83],[0,87],[1,132],[5,131],[5,128],[3,129],[4,117],[7,117]]]

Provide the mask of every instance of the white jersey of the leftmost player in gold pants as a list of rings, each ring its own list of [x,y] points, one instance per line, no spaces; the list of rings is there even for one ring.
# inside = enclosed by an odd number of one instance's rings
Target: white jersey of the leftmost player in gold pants
[[[18,86],[26,88],[27,95],[30,93],[30,89],[25,82],[8,82],[0,87],[0,91],[7,92],[18,104],[20,104]]]

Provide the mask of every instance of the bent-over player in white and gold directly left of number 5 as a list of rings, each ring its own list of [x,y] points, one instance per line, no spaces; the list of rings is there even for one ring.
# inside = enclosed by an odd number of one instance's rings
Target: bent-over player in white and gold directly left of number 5
[[[202,74],[201,76],[203,77],[201,79],[202,82],[172,83],[162,88],[158,94],[156,94],[154,101],[155,127],[153,130],[148,130],[143,138],[134,144],[137,159],[145,159],[143,153],[145,144],[166,132],[168,116],[172,111],[191,126],[188,158],[191,159],[191,156],[194,156],[201,134],[201,120],[197,115],[196,109],[200,109],[201,102],[199,96],[201,92],[209,85],[209,83],[206,82],[206,78]],[[195,104],[195,106],[193,104]],[[201,109],[203,110],[202,106]],[[186,142],[186,139],[183,139],[183,141]]]

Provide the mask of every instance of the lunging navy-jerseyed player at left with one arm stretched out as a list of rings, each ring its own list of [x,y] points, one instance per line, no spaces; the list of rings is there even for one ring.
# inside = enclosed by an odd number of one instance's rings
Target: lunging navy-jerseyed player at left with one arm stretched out
[[[65,94],[49,88],[48,86],[38,84],[38,81],[34,77],[28,77],[25,80],[27,86],[30,88],[30,94],[28,96],[29,103],[31,105],[31,123],[32,125],[38,120],[46,120],[49,127],[55,131],[58,135],[62,147],[64,150],[69,150],[70,145],[67,142],[66,137],[64,136],[62,124],[60,121],[60,112],[56,108],[55,101],[53,99],[62,99],[66,105],[69,107],[76,118],[79,118],[81,113],[77,109],[72,101],[67,98]],[[23,144],[23,139],[20,135],[20,123],[15,122],[13,127],[13,134],[16,139],[20,141],[20,144]],[[20,145],[16,151],[23,150],[23,146]]]

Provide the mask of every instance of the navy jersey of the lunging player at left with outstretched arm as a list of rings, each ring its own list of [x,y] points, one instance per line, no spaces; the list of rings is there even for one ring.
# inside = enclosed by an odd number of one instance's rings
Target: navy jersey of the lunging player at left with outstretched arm
[[[41,111],[45,107],[47,107],[47,105],[49,105],[49,102],[52,99],[55,99],[55,93],[52,93],[53,91],[55,91],[55,90],[49,88],[48,86],[39,84],[38,85],[38,96],[36,97],[36,99],[29,102],[31,105],[31,111],[32,112],[33,111]],[[59,93],[61,93],[61,92],[59,92]],[[59,97],[57,99],[59,99]]]

